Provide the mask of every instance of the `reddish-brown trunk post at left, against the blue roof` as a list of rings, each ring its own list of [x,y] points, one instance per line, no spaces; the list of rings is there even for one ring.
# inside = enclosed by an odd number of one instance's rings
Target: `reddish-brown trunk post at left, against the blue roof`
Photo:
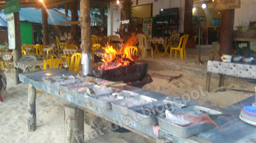
[[[44,8],[44,6],[42,6],[42,26],[43,26],[44,44],[49,45],[48,12],[47,12],[47,9]]]

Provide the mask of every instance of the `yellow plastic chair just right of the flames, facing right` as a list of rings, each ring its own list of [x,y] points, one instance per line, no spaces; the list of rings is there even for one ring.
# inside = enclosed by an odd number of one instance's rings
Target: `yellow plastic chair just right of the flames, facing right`
[[[138,48],[140,48],[140,53],[142,55],[142,58],[144,58],[147,55],[147,50],[151,51],[151,56],[153,58],[153,48],[151,46],[148,46],[146,36],[144,34],[137,34],[137,39],[139,42]]]

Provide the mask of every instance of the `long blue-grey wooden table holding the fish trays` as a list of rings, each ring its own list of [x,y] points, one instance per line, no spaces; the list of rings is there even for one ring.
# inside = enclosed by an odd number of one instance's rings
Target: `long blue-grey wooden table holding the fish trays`
[[[22,73],[19,74],[19,79],[21,82],[28,84],[28,128],[31,128],[31,122],[36,125],[36,89],[40,91],[46,91],[51,95],[56,95],[61,97],[70,103],[74,103],[80,109],[97,115],[98,117],[102,117],[110,122],[117,123],[121,127],[124,127],[130,131],[138,133],[143,137],[148,139],[157,140],[157,143],[164,143],[164,140],[167,139],[174,143],[240,143],[240,142],[250,142],[256,140],[256,127],[249,125],[242,120],[239,119],[240,110],[245,105],[251,105],[252,102],[255,101],[255,97],[249,97],[240,103],[236,103],[227,108],[219,108],[214,107],[202,103],[198,103],[196,101],[189,101],[187,103],[188,106],[192,105],[200,105],[203,107],[207,107],[210,109],[215,109],[222,113],[230,114],[233,117],[224,117],[222,121],[224,123],[220,126],[223,132],[220,132],[218,129],[214,128],[198,135],[194,135],[188,138],[178,137],[172,133],[164,131],[162,129],[159,130],[159,136],[155,135],[152,130],[152,126],[142,125],[139,122],[132,122],[127,124],[125,117],[119,113],[114,112],[113,110],[103,110],[97,107],[93,107],[91,104],[88,105],[83,101],[80,101],[76,95],[68,95],[64,91],[58,91],[52,89],[51,87],[46,86],[42,77],[47,75],[56,76],[56,75],[77,75],[77,73],[72,73],[66,70],[54,69],[54,70],[44,70],[30,73]],[[103,80],[103,79],[102,79]],[[128,86],[126,90],[133,91],[139,93],[140,95],[146,95],[149,97],[153,97],[158,100],[167,99],[173,100],[174,96],[165,95],[162,93],[156,93],[136,87]],[[33,95],[33,94],[34,95]]]

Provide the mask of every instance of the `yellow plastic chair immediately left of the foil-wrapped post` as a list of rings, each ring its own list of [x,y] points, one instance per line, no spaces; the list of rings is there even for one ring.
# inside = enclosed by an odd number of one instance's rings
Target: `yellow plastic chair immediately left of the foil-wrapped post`
[[[82,70],[82,67],[80,67],[80,61],[81,61],[81,53],[75,53],[71,56],[71,61],[69,65],[68,71],[79,73],[80,70]]]

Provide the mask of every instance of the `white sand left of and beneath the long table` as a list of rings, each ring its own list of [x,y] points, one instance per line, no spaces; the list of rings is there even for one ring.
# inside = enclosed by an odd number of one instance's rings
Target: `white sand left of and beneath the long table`
[[[36,123],[37,129],[28,132],[27,125],[27,85],[21,83],[14,85],[13,71],[6,73],[7,89],[3,95],[4,102],[0,102],[0,143],[64,143],[64,111],[61,98],[48,97],[46,93],[36,97]],[[89,133],[91,125],[96,119],[94,115],[85,113],[84,130]],[[102,127],[108,121],[98,121]],[[97,124],[97,123],[96,123]],[[95,126],[92,123],[93,126]],[[87,143],[145,143],[144,137],[136,133],[116,133],[105,130],[104,135],[91,139]],[[89,134],[90,135],[90,134]]]

